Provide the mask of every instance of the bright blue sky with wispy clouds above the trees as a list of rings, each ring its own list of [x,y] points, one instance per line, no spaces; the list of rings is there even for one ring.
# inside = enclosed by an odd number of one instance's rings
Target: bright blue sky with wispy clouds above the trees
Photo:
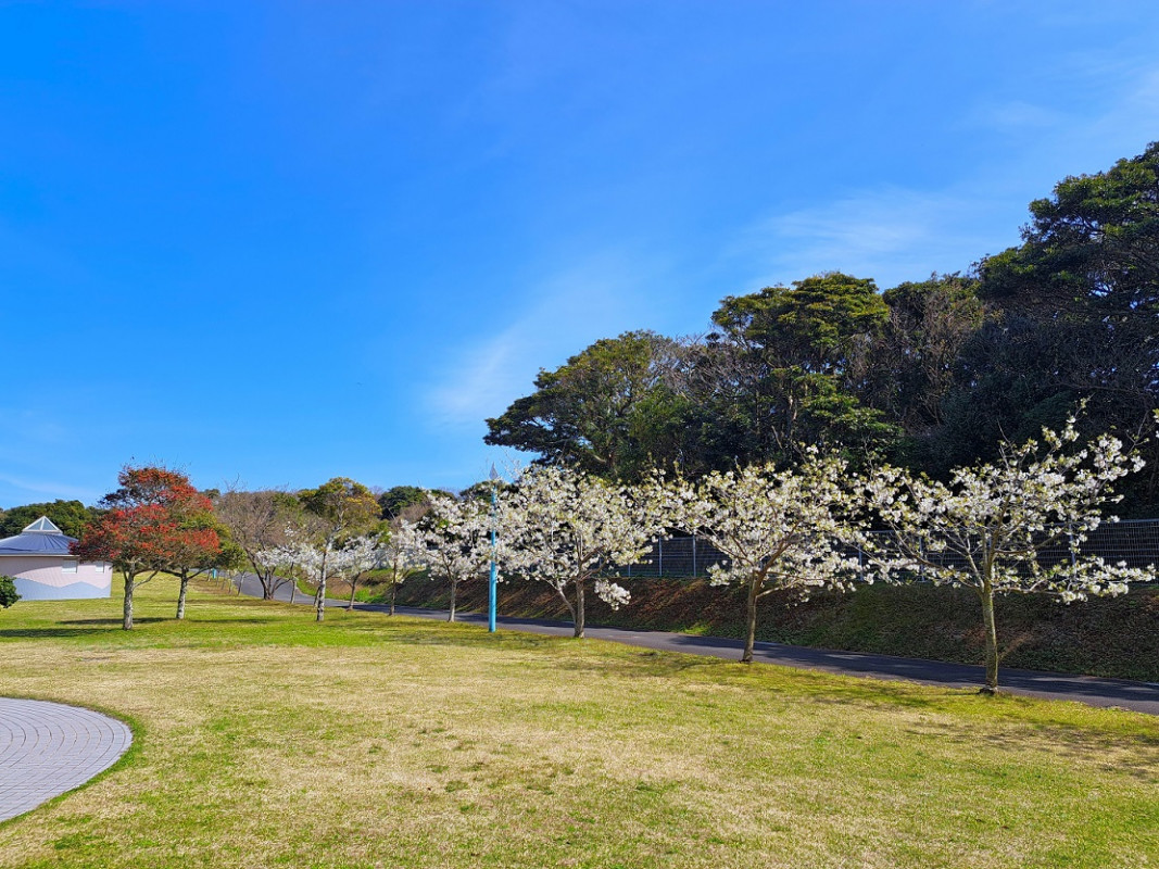
[[[460,488],[592,341],[1018,241],[1159,138],[1159,5],[0,2],[0,506]]]

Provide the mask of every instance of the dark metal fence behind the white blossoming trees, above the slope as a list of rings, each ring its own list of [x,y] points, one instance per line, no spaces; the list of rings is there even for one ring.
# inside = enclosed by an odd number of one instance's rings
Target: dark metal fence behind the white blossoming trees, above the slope
[[[875,536],[890,536],[892,532],[870,532]],[[1099,556],[1111,563],[1127,562],[1128,567],[1159,565],[1159,519],[1130,519],[1105,523],[1087,535],[1080,547],[1083,555]],[[851,555],[854,554],[851,552]],[[1040,562],[1059,563],[1071,557],[1065,540],[1043,549]],[[698,536],[670,536],[657,540],[643,561],[615,570],[622,577],[694,577],[706,576],[708,568],[726,561],[726,556],[707,540]],[[941,563],[953,564],[955,556],[943,555]]]

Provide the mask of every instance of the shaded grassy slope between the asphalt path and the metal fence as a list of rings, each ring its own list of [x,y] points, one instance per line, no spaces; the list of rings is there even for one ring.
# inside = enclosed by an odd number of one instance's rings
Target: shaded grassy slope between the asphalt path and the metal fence
[[[624,580],[632,604],[617,612],[595,600],[597,623],[710,636],[743,634],[744,600],[736,589],[702,579]],[[360,599],[372,599],[372,591]],[[400,587],[399,603],[445,606],[445,583],[415,579]],[[482,611],[484,583],[459,587],[459,606]],[[983,662],[977,598],[964,589],[931,585],[866,586],[850,594],[825,593],[804,604],[771,596],[761,600],[758,638],[825,649]],[[527,618],[567,618],[552,589],[538,583],[501,587],[500,611]],[[1159,587],[1122,598],[1063,606],[1040,596],[1009,596],[997,605],[1004,666],[1089,673],[1159,681]]]

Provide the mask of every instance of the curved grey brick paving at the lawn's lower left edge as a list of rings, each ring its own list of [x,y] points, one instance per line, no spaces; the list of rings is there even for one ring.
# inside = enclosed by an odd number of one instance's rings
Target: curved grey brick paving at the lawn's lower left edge
[[[126,724],[90,709],[0,698],[0,820],[83,784],[132,739]]]

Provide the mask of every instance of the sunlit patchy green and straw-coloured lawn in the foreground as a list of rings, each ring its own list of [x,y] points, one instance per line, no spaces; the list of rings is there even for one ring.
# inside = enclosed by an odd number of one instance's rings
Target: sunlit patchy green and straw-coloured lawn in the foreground
[[[0,612],[0,693],[136,729],[17,867],[1142,867],[1159,723],[143,589]]]

